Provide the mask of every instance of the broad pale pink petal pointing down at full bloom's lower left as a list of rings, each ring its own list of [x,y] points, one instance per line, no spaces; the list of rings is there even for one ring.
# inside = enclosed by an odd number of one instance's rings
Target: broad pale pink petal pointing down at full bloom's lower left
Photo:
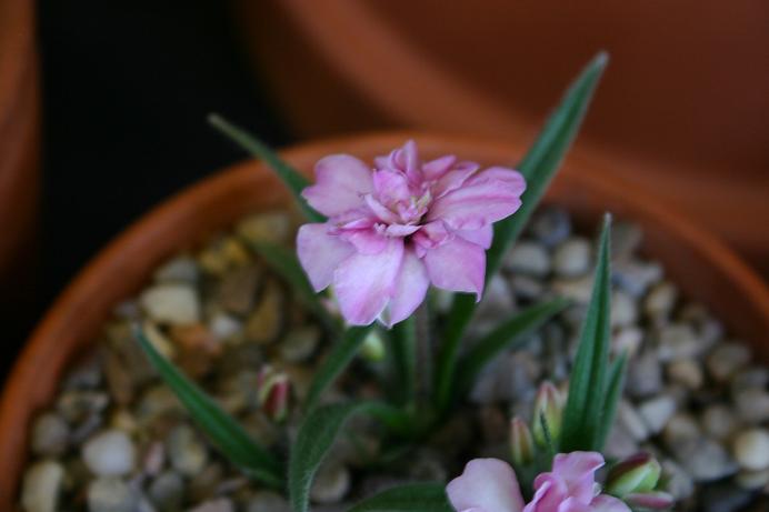
[[[403,239],[388,239],[378,254],[356,253],[339,265],[333,289],[350,324],[368,325],[381,314],[395,291],[402,259]]]

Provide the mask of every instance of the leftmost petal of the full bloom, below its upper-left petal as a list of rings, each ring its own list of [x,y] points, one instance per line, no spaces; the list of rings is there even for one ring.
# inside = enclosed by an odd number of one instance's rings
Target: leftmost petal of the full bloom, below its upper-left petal
[[[333,271],[354,252],[352,245],[329,234],[328,224],[304,224],[297,234],[297,253],[314,291],[331,284]]]

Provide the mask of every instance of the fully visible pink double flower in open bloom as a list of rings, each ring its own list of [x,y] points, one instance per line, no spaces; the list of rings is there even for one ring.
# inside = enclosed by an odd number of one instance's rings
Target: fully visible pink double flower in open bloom
[[[413,141],[373,169],[327,157],[316,178],[302,195],[329,220],[300,228],[299,260],[316,291],[332,285],[357,325],[407,319],[430,283],[480,300],[491,224],[518,210],[526,189],[512,169],[479,171],[451,155],[421,162]]]

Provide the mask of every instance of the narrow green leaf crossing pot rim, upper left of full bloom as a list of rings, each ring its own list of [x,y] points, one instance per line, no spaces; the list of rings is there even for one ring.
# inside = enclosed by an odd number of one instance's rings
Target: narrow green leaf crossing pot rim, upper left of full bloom
[[[229,137],[238,145],[243,148],[250,154],[259,158],[267,162],[268,165],[278,174],[278,178],[288,187],[293,194],[293,199],[297,200],[299,208],[302,210],[304,215],[312,222],[324,222],[326,217],[318,213],[312,207],[310,207],[304,198],[301,195],[301,191],[307,188],[310,182],[304,175],[292,168],[289,163],[282,160],[278,153],[272,151],[269,145],[257,139],[256,137],[249,134],[246,130],[232,124],[228,120],[223,119],[221,116],[212,113],[208,117],[208,122],[211,123],[217,130]]]

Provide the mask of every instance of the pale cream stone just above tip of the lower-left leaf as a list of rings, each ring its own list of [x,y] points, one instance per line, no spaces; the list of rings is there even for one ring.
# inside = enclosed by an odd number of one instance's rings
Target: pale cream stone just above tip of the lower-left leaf
[[[200,321],[198,293],[189,284],[158,284],[147,289],[140,302],[156,322],[183,325]]]

